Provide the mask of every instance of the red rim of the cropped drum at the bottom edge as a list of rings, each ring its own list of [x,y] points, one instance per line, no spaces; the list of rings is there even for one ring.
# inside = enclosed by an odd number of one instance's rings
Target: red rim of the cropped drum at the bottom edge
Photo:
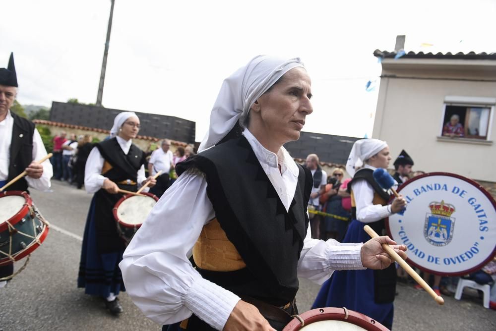
[[[301,314],[300,318],[305,322],[305,326],[320,321],[343,321],[368,331],[389,331],[389,329],[370,317],[346,308],[327,307],[312,309]],[[284,327],[283,331],[298,331],[302,328],[304,327],[302,327],[300,320],[294,318]]]

